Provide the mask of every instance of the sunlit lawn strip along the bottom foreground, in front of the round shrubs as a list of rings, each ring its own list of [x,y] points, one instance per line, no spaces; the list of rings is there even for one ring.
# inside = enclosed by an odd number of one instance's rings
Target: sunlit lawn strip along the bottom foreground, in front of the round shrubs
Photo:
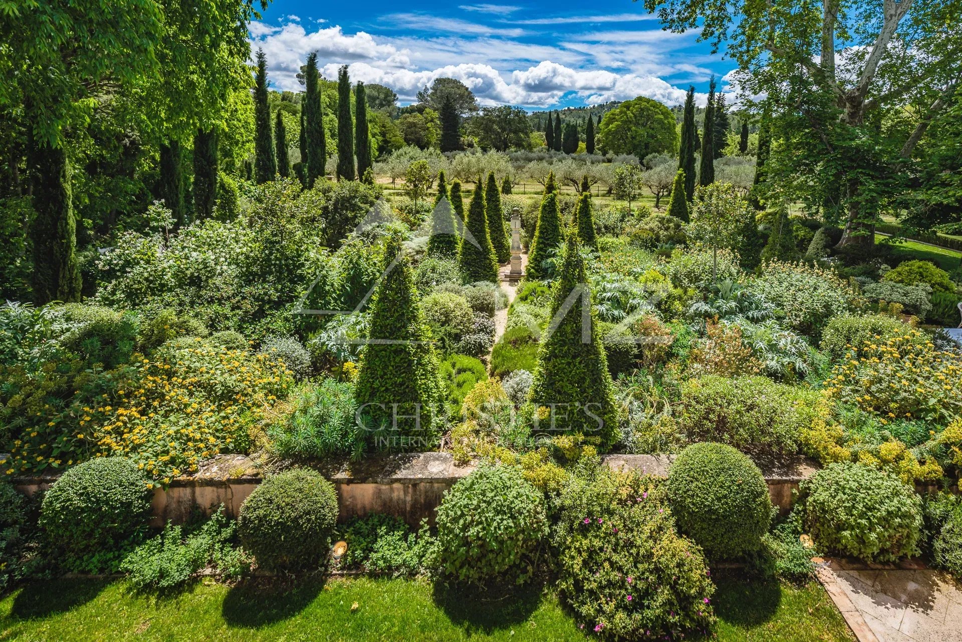
[[[718,578],[722,641],[851,640],[822,587]],[[352,609],[352,605],[357,607]],[[535,587],[484,599],[403,579],[307,579],[296,585],[206,579],[173,597],[124,581],[57,579],[0,601],[0,640],[584,640],[554,594]]]

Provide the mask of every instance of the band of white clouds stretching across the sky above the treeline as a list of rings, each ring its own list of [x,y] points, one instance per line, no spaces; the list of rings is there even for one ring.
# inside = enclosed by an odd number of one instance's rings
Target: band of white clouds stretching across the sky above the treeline
[[[396,16],[394,26],[416,22],[453,29],[473,24],[419,13]],[[363,31],[344,34],[336,25],[308,32],[293,22],[280,27],[252,22],[249,29],[254,48],[266,53],[269,78],[276,89],[300,90],[295,74],[307,55],[316,51],[325,77],[336,77],[338,67],[348,64],[353,80],[386,85],[402,102],[415,100],[418,90],[436,78],[449,77],[465,83],[482,105],[544,108],[571,96],[594,104],[639,95],[675,105],[684,101],[685,88],[659,76],[710,74],[694,60],[664,62],[660,51],[684,42],[661,31],[594,32],[552,45],[500,37],[483,29],[468,36],[395,38]],[[662,40],[647,35],[654,33]],[[599,41],[606,35],[613,35],[611,42]],[[697,94],[696,99],[704,104],[705,96]]]

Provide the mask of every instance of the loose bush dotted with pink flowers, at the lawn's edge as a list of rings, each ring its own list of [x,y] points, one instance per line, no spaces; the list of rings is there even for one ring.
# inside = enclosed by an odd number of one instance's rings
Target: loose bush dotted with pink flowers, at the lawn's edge
[[[558,588],[581,627],[635,640],[712,626],[705,559],[677,534],[655,480],[601,467],[573,478],[558,504]]]

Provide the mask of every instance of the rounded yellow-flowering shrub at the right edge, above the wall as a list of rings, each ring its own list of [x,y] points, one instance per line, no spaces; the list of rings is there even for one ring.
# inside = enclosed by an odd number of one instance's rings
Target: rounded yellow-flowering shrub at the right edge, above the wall
[[[868,340],[861,356],[849,350],[826,381],[829,398],[873,413],[882,424],[899,419],[949,424],[962,416],[962,361],[921,343],[912,330]]]

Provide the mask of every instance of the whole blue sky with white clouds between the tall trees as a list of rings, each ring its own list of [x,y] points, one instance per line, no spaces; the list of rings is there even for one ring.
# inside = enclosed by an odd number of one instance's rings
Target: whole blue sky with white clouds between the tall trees
[[[703,103],[711,74],[723,78],[735,66],[710,55],[696,32],[662,31],[630,0],[274,0],[250,33],[276,89],[299,89],[294,74],[316,50],[325,77],[350,64],[352,80],[387,85],[402,104],[442,76],[466,83],[488,105],[556,109],[639,95],[673,105],[689,85]]]

